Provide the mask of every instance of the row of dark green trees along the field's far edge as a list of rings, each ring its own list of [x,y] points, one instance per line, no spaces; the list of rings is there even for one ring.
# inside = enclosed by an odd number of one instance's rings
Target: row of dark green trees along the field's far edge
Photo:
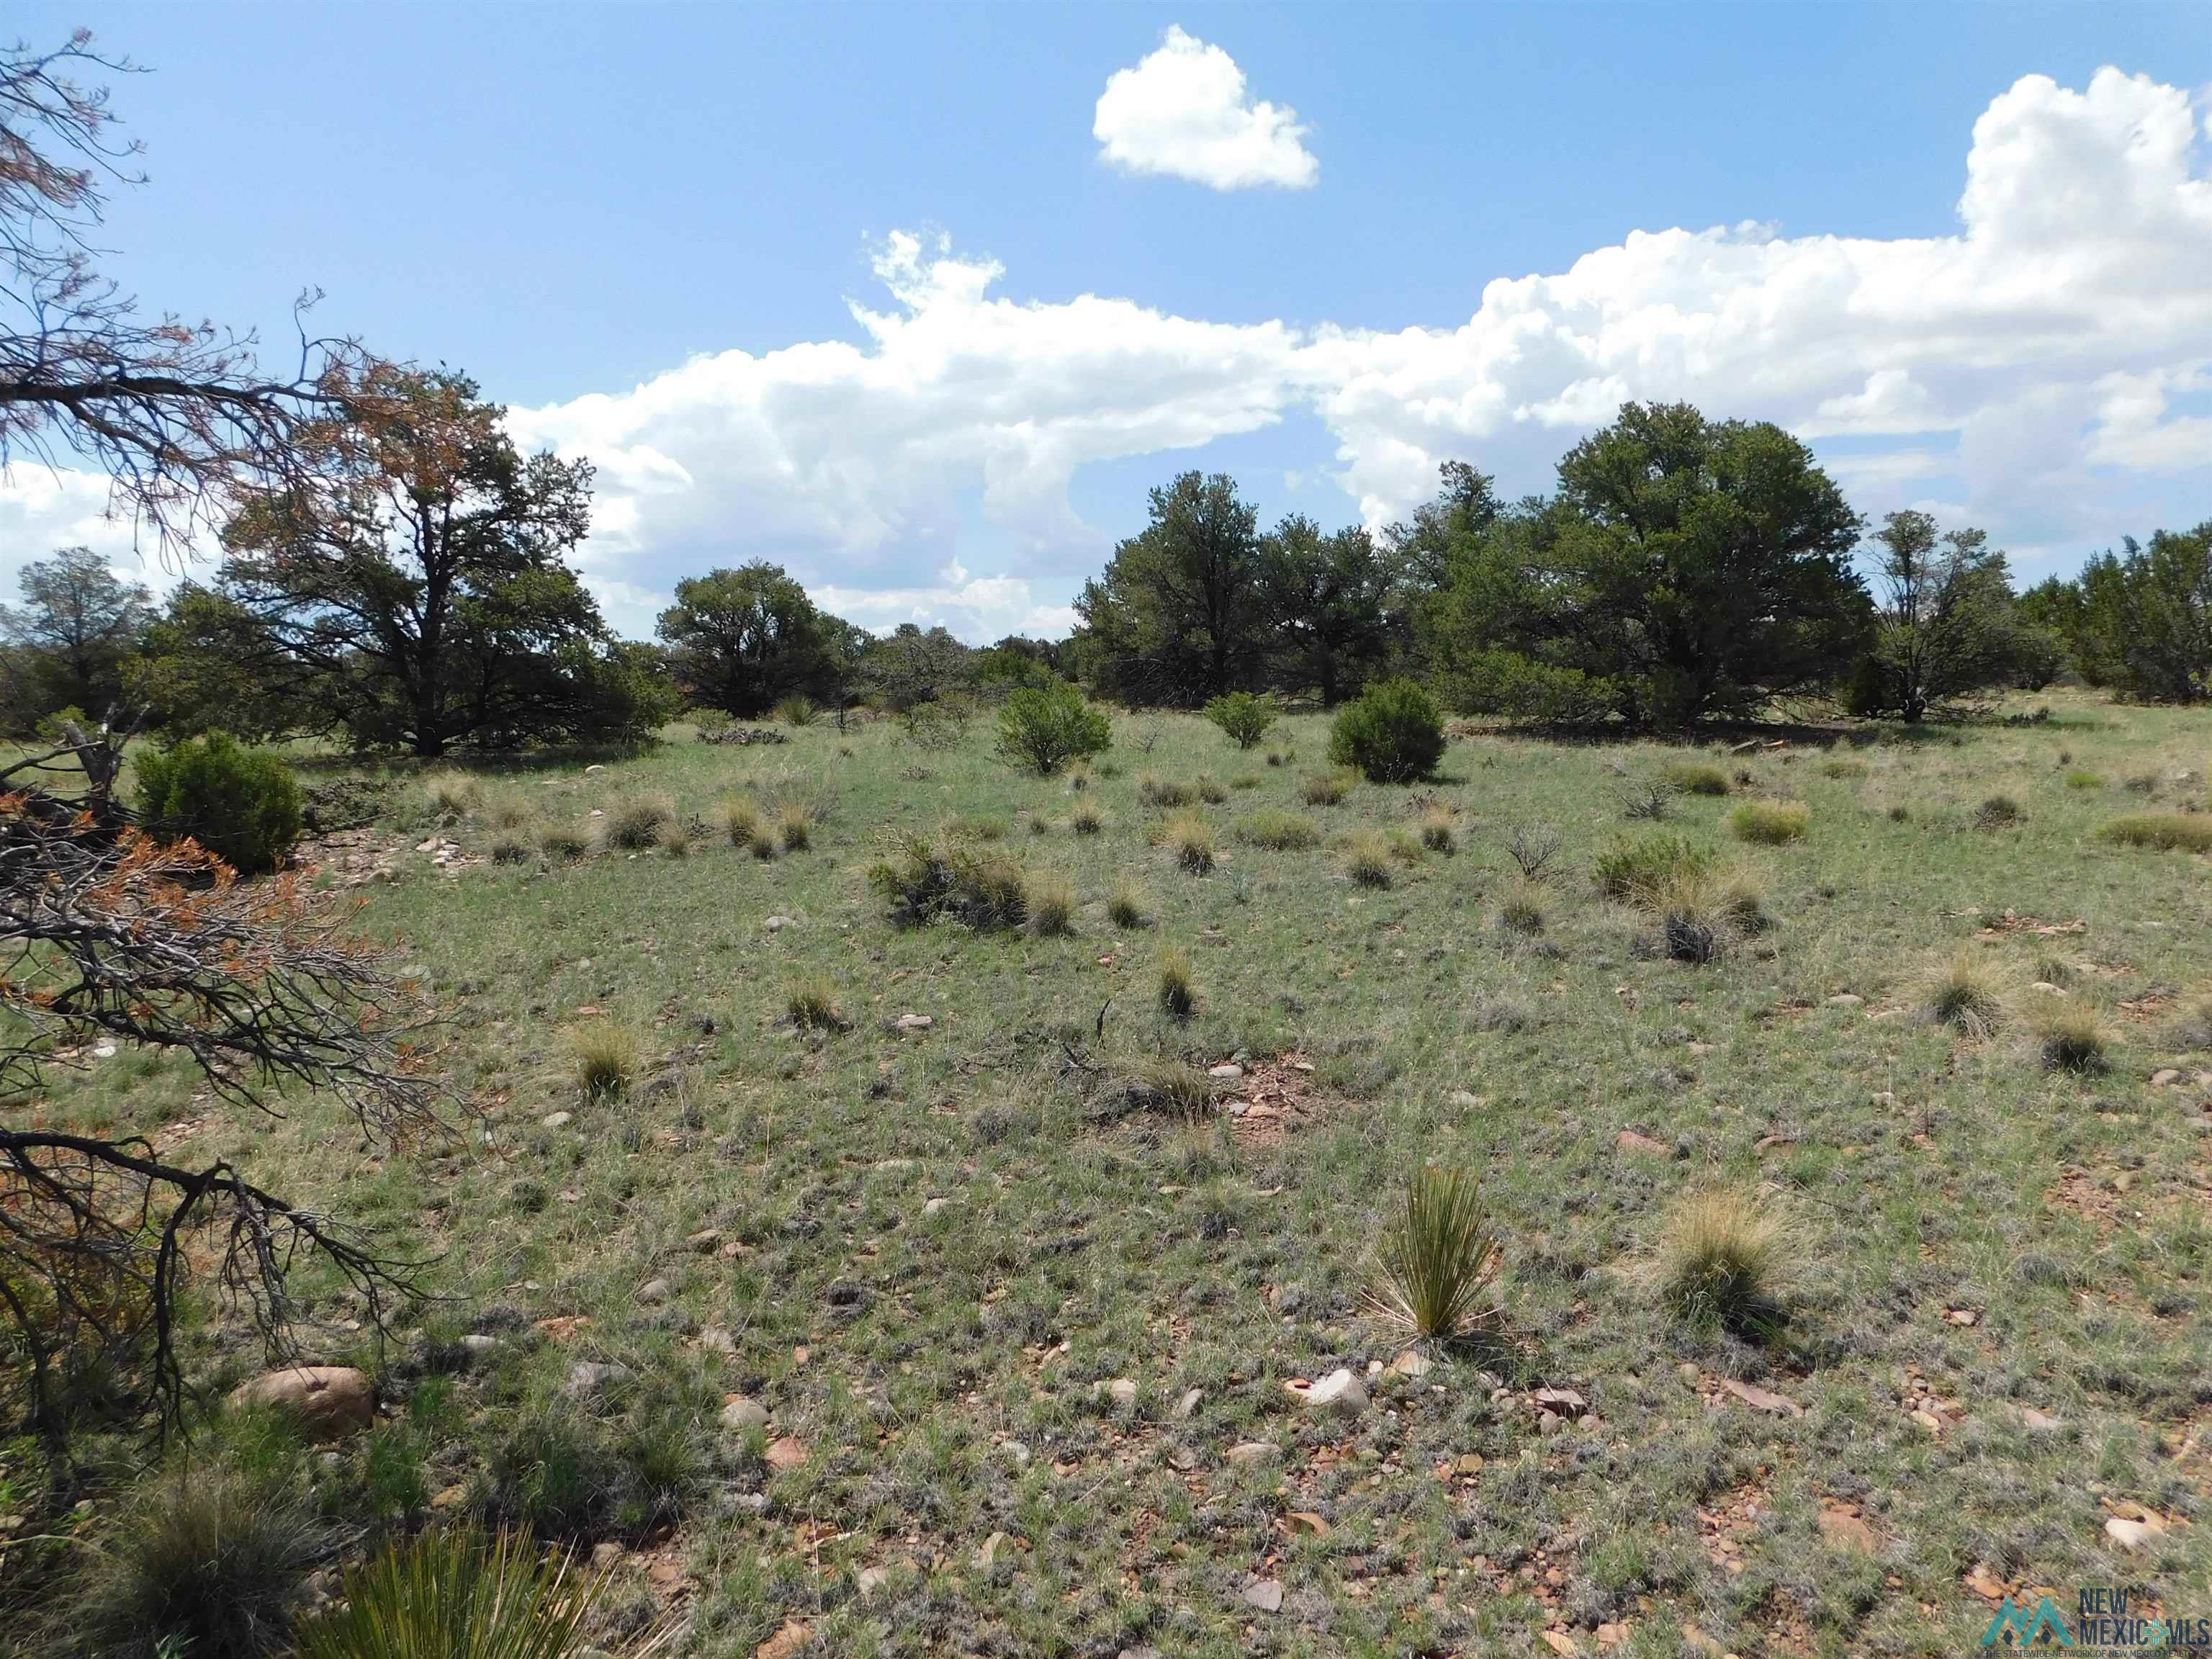
[[[1871,531],[1770,422],[1630,403],[1500,500],[1467,462],[1380,533],[1259,526],[1225,473],[1150,493],[1064,641],[973,650],[876,637],[770,562],[686,577],[653,641],[613,635],[568,557],[586,460],[524,456],[453,372],[363,363],[301,422],[301,465],[243,493],[206,582],[157,606],[86,549],[22,573],[0,613],[18,732],[142,710],[164,732],[456,745],[637,739],[679,708],[757,719],[872,703],[918,728],[1064,677],[1137,706],[1316,699],[1380,677],[1444,706],[1677,728],[1834,699],[1920,721],[2068,668],[2124,697],[2212,697],[2212,522],[2013,591],[1984,531],[1889,513]]]

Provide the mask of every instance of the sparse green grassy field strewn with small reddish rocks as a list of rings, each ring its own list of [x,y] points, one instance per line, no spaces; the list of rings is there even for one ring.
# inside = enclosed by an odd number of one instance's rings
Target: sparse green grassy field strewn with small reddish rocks
[[[403,776],[321,880],[440,1013],[467,1148],[363,1159],[316,1102],[243,1124],[128,1053],[51,1108],[440,1254],[380,1358],[307,1307],[389,1413],[303,1478],[597,1546],[606,1641],[677,1608],[772,1659],[1955,1655],[2006,1593],[2212,1615],[2208,865],[2101,834],[2203,810],[2212,717],[2053,710],[1475,732],[1334,803],[1321,719],[1239,752],[1119,717],[1082,787],[982,723],[677,730],[442,807]],[[785,812],[805,845],[757,856]],[[1018,863],[1042,927],[896,925],[867,872],[907,832]],[[1703,854],[1710,960],[1599,891],[1648,836]],[[1515,838],[1557,841],[1540,878]],[[1500,1314],[1411,1349],[1371,1292],[1422,1164],[1480,1175]],[[1714,1190],[1778,1228],[1756,1334],[1659,1294]],[[1285,1389],[1338,1367],[1365,1409]]]

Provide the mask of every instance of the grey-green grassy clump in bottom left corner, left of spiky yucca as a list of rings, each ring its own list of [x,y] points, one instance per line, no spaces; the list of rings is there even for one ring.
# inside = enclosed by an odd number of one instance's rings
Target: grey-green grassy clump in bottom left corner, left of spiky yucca
[[[288,1469],[179,1469],[128,1500],[69,1619],[95,1652],[283,1652],[301,1582],[334,1544]]]

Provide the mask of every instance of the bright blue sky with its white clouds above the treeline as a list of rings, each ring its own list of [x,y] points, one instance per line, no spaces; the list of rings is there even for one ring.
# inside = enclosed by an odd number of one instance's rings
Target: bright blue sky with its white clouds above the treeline
[[[876,626],[1051,626],[1181,467],[1380,522],[1451,453],[1542,487],[1613,394],[1781,418],[1869,511],[1991,522],[2031,573],[2212,511],[2212,310],[2181,274],[2212,270],[2205,4],[13,15],[150,71],[115,86],[150,173],[115,274],[279,341],[321,285],[323,327],[467,367],[518,431],[602,458],[584,562],[630,630],[677,575],[763,555]],[[1168,170],[1115,159],[1108,77],[1230,62],[1225,119],[1294,111],[1270,155],[1307,179],[1175,177],[1194,82],[1166,73],[1117,119]],[[2095,91],[2101,66],[2139,80]],[[1971,153],[1982,246],[1951,248]],[[2070,190],[2070,221],[2037,208]],[[1526,276],[1559,285],[1486,305]],[[1686,314],[1714,323],[1670,334]],[[62,507],[18,502],[9,542]]]

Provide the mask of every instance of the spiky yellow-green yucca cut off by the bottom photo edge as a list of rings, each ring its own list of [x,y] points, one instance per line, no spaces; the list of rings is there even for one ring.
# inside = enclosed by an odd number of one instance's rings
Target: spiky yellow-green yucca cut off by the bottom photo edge
[[[522,1533],[418,1533],[345,1575],[301,1624],[299,1659],[573,1659],[604,1584]]]

